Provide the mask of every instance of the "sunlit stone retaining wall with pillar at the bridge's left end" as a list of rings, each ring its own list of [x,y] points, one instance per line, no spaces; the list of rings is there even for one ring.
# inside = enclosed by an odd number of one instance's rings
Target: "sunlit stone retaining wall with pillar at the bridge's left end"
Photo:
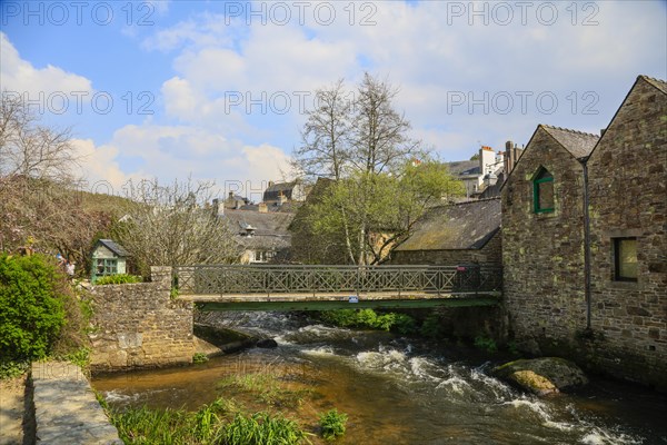
[[[192,304],[170,297],[170,267],[151,267],[151,278],[92,288],[93,372],[192,362]]]

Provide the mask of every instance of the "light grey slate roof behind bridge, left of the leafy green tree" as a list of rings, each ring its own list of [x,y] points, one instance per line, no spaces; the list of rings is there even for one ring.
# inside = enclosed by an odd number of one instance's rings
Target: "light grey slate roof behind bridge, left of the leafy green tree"
[[[291,245],[291,234],[288,227],[293,214],[259,212],[250,210],[225,210],[222,216],[237,234],[237,240],[248,248],[286,248]],[[246,228],[253,229],[253,236],[247,237]]]

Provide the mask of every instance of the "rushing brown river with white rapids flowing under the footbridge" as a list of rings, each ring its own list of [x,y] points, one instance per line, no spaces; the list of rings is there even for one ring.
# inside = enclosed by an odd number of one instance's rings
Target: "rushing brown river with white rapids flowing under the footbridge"
[[[475,350],[434,350],[289,314],[243,317],[236,328],[273,337],[279,347],[100,376],[93,386],[112,406],[197,409],[226,396],[222,378],[270,372],[312,390],[299,412],[311,424],[331,407],[349,415],[340,444],[667,444],[667,397],[641,387],[594,380],[577,394],[538,398],[490,377],[496,364]]]

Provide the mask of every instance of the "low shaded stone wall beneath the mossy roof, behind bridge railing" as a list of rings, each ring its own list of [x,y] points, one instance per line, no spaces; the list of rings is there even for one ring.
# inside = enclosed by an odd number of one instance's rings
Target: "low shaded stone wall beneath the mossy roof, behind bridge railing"
[[[500,265],[502,259],[502,237],[500,233],[481,249],[461,250],[396,250],[391,264],[456,266],[466,263]]]

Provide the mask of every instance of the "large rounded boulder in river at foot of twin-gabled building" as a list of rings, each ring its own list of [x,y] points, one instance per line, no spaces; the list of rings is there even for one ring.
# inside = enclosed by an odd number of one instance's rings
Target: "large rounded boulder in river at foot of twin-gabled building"
[[[574,363],[559,357],[520,359],[498,366],[494,375],[514,386],[544,396],[588,383]]]

